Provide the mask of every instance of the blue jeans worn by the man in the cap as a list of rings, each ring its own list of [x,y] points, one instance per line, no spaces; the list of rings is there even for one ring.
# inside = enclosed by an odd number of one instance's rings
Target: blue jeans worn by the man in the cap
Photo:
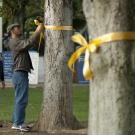
[[[25,109],[28,104],[28,72],[15,71],[13,73],[13,85],[15,88],[15,99],[13,109],[13,124],[21,125],[25,120]]]

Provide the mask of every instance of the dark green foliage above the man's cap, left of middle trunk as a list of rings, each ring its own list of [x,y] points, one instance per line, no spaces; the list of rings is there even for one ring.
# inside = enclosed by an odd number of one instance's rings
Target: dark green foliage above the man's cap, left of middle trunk
[[[6,31],[7,25],[13,22],[19,22],[24,30],[26,20],[43,16],[43,2],[43,0],[4,0],[1,10],[4,31]]]

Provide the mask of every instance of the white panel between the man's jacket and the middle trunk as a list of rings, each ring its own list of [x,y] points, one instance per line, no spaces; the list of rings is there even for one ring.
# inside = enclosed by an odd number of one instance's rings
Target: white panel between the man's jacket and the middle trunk
[[[30,51],[29,54],[30,54],[32,65],[34,68],[34,70],[31,70],[31,73],[29,73],[29,83],[38,84],[39,53]]]

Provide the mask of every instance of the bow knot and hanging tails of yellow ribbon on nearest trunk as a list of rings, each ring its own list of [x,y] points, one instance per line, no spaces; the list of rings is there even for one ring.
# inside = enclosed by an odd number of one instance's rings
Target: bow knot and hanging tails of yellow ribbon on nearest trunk
[[[80,44],[82,47],[80,47],[75,53],[73,53],[73,55],[68,61],[68,66],[71,69],[71,71],[74,72],[72,65],[80,57],[80,55],[85,51],[83,75],[84,75],[85,80],[89,80],[92,77],[92,71],[90,69],[90,63],[89,63],[90,52],[96,52],[98,46],[97,44],[94,44],[94,43],[88,43],[81,34],[76,34],[72,36],[72,41]]]

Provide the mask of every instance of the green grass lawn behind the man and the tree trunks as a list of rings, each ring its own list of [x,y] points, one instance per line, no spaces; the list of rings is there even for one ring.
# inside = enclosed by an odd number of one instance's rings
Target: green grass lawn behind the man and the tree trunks
[[[73,112],[80,121],[88,119],[88,86],[73,87]],[[0,90],[0,120],[11,121],[14,91],[12,88]],[[26,111],[26,122],[38,119],[42,103],[41,88],[30,88],[29,105]]]

